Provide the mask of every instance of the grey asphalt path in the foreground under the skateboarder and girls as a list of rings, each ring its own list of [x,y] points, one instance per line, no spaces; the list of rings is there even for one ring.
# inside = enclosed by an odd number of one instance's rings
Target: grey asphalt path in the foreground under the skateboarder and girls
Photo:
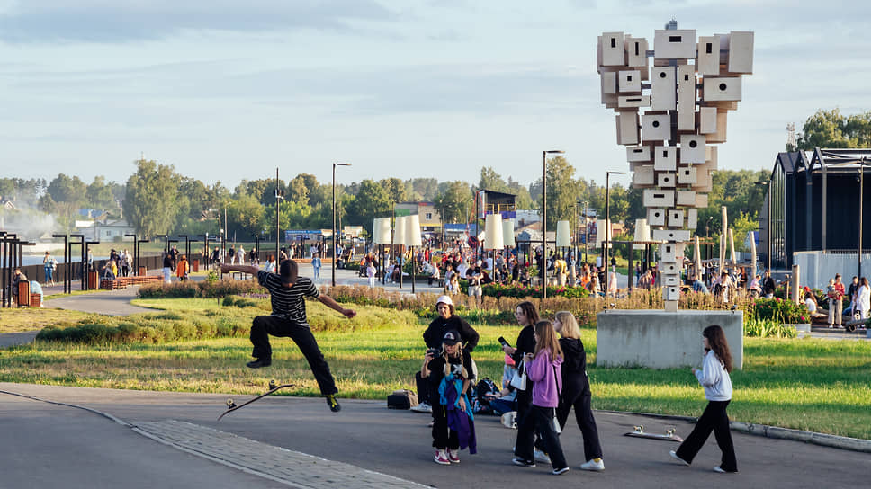
[[[546,464],[534,468],[511,465],[516,431],[502,427],[494,416],[476,420],[479,453],[463,451],[460,464],[443,467],[432,460],[429,415],[388,410],[385,402],[343,400],[342,412],[330,413],[320,398],[270,396],[217,422],[227,395],[19,384],[0,384],[0,390],[84,405],[133,425],[189,422],[264,446],[298,450],[436,487],[857,487],[867,486],[871,460],[867,453],[733,431],[741,472],[716,474],[712,468],[719,464],[720,454],[713,436],[692,467],[670,460],[669,449],[677,448],[677,443],[623,436],[636,424],[652,432],[675,427],[678,434],[687,436],[692,424],[597,413],[606,471],[578,469],[584,461],[583,444],[577,425],[570,420],[561,441],[572,470],[552,476]],[[237,402],[248,398],[230,397]],[[699,408],[703,406],[699,392]],[[0,432],[11,440],[0,449],[0,464],[7,466],[2,486],[112,487],[124,481],[130,487],[238,487],[236,481],[249,480],[217,463],[196,460],[181,451],[174,454],[173,449],[93,413],[15,396],[0,395]],[[37,473],[38,483],[34,482]],[[271,486],[268,481],[248,484]]]

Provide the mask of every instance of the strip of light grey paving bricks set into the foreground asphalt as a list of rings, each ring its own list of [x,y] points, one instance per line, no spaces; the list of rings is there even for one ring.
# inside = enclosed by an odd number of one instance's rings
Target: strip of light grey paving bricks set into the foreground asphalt
[[[274,447],[190,422],[139,422],[133,428],[177,449],[301,489],[423,488],[415,482],[307,453]]]

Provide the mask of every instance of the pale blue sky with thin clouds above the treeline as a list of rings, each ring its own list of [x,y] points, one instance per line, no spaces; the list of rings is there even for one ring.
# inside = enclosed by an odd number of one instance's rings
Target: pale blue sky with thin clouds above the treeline
[[[755,31],[726,169],[770,169],[819,109],[871,110],[865,0],[0,0],[0,176],[126,182],[140,156],[233,189],[329,182],[528,184],[545,149],[626,171],[596,40]],[[615,179],[627,184],[629,177]]]

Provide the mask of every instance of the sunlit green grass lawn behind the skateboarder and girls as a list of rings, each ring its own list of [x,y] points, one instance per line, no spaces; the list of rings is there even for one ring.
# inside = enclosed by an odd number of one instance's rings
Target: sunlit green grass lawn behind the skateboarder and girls
[[[217,308],[215,299],[136,302],[190,314]],[[318,303],[308,307],[310,316],[333,314]],[[254,308],[240,311],[248,309]],[[262,311],[246,312],[255,314]],[[250,321],[249,316],[232,317]],[[480,375],[499,379],[502,353],[497,338],[505,336],[513,343],[518,328],[476,328],[481,340],[473,357]],[[420,368],[425,350],[421,340],[424,329],[425,325],[413,321],[384,326],[375,321],[368,327],[331,329],[316,336],[337,378],[340,396],[385,399],[393,389],[414,389],[414,372]],[[595,362],[596,331],[583,330],[583,341],[588,361]],[[759,338],[745,338],[744,342],[744,369],[732,373],[732,419],[871,439],[871,342]],[[299,386],[284,391],[286,395],[319,395],[308,365],[292,341],[273,339],[273,347],[272,367],[251,370],[245,367],[251,352],[247,338],[105,346],[37,342],[0,351],[0,380],[255,394],[275,379]],[[589,375],[593,407],[597,409],[697,416],[705,407],[702,388],[688,369],[591,367]]]

